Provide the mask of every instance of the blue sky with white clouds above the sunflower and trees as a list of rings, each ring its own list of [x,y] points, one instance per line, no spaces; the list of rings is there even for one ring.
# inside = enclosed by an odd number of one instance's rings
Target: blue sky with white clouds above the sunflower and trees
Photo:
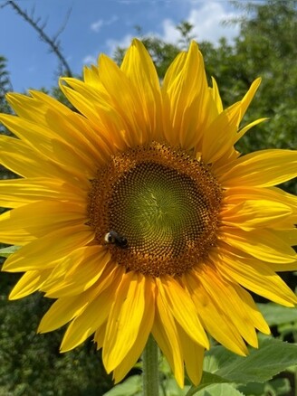
[[[135,26],[143,33],[154,33],[167,42],[177,42],[175,25],[187,20],[195,26],[196,40],[217,42],[221,36],[232,40],[238,33],[235,25],[221,22],[238,14],[226,1],[198,0],[17,0],[17,5],[46,22],[50,36],[60,35],[62,53],[74,73],[83,64],[94,62],[100,52],[112,56],[117,45],[128,46],[135,36]],[[57,85],[58,61],[41,42],[32,26],[24,22],[10,6],[1,7],[0,55],[7,59],[7,69],[15,91]]]

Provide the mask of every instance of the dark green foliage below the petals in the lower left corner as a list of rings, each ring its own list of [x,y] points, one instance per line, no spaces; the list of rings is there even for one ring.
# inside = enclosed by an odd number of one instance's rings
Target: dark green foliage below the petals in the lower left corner
[[[24,396],[97,396],[112,385],[91,341],[59,353],[62,332],[38,335],[36,329],[50,301],[36,294],[7,304],[2,275],[0,300],[0,394]],[[11,276],[9,279],[14,278]],[[7,279],[8,280],[8,279]]]

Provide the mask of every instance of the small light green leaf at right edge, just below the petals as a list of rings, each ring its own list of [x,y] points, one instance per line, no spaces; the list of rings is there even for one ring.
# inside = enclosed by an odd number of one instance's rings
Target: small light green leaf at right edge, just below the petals
[[[268,325],[283,325],[297,321],[297,308],[288,308],[273,303],[257,304]]]

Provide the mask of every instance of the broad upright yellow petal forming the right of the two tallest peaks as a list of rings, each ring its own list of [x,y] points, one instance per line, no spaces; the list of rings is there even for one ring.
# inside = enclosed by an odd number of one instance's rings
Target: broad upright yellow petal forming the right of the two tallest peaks
[[[201,52],[192,42],[186,54],[177,56],[166,73],[162,97],[164,134],[172,146],[191,149],[217,116],[216,103],[208,90]]]

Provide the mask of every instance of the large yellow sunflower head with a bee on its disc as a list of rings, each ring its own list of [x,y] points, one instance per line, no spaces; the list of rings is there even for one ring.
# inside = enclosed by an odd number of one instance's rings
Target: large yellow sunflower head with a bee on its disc
[[[10,298],[56,301],[39,332],[68,324],[62,352],[93,336],[119,382],[151,334],[177,383],[197,384],[206,334],[235,354],[269,327],[248,290],[284,306],[297,298],[275,271],[297,269],[297,199],[276,184],[297,175],[297,152],[241,156],[235,143],[260,79],[223,108],[195,42],[160,85],[134,40],[120,68],[101,55],[83,80],[63,78],[77,111],[43,92],[8,94],[1,121],[0,240],[20,247]]]

